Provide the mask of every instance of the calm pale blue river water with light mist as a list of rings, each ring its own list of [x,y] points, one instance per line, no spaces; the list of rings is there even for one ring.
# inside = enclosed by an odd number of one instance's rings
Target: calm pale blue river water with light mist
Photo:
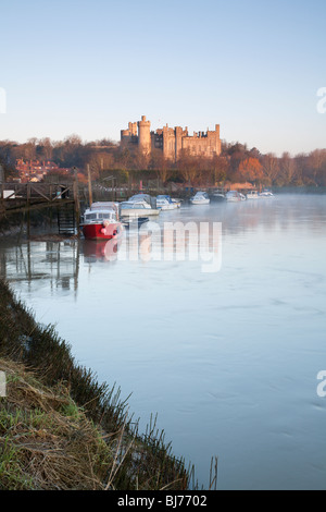
[[[200,484],[217,455],[220,489],[325,489],[326,196],[185,206],[159,222],[177,220],[222,222],[220,271],[110,260],[80,241],[0,242],[1,273],[80,364],[133,393],[142,428],[158,413]]]

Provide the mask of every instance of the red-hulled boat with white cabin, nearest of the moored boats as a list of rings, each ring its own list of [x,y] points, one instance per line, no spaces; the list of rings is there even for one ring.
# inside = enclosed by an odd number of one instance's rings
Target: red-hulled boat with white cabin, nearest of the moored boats
[[[122,234],[124,227],[118,220],[118,208],[115,203],[92,203],[85,210],[80,224],[87,240],[111,240]]]

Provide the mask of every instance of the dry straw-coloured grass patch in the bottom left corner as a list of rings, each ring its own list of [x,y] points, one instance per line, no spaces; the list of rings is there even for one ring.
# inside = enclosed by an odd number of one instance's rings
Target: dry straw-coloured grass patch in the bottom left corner
[[[46,387],[22,364],[8,359],[0,359],[0,370],[7,376],[0,407],[0,489],[110,488],[114,448],[68,389]]]

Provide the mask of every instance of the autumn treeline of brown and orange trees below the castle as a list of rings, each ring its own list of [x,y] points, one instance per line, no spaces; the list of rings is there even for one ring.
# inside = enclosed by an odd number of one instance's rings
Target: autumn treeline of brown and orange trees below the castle
[[[263,186],[326,186],[326,149],[315,149],[309,154],[281,157],[261,154],[247,145],[222,144],[221,156],[213,159],[193,157],[183,153],[177,162],[163,158],[155,149],[148,157],[137,149],[121,146],[110,139],[83,143],[78,135],[64,141],[30,138],[25,144],[11,141],[0,142],[0,162],[7,175],[14,178],[15,162],[39,160],[53,161],[60,168],[78,168],[85,173],[90,166],[93,179],[101,178],[105,171],[120,171],[127,180],[128,171],[151,171],[163,183],[168,181],[191,185],[216,186],[225,183],[250,182]]]

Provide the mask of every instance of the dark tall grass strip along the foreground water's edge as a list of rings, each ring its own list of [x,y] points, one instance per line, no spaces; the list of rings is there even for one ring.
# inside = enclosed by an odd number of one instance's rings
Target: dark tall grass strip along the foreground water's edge
[[[173,455],[164,431],[151,418],[145,434],[131,423],[127,399],[116,386],[99,383],[96,374],[77,364],[70,345],[52,326],[36,322],[33,312],[0,280],[0,357],[22,363],[46,386],[62,383],[72,400],[99,425],[114,447],[115,456],[105,488],[120,490],[185,490],[195,483],[193,467]],[[192,481],[192,483],[191,483]]]

